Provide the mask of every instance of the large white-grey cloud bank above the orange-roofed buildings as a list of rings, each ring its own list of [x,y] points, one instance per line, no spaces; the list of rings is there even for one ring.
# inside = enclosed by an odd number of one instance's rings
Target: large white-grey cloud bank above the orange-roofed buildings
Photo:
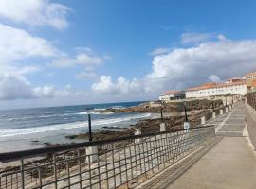
[[[121,77],[121,81],[113,82],[110,76],[103,76],[92,89],[105,94],[142,93],[157,97],[162,91],[242,77],[255,70],[256,40],[231,41],[223,35],[218,39],[155,56],[152,71],[141,79],[129,81]]]

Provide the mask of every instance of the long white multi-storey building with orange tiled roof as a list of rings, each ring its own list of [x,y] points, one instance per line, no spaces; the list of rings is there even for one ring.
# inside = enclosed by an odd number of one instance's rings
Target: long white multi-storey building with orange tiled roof
[[[186,98],[200,98],[226,94],[247,94],[246,79],[230,78],[225,83],[206,83],[186,90]]]

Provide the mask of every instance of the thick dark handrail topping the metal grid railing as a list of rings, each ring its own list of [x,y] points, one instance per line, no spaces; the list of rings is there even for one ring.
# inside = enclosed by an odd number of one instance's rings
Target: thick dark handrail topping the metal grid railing
[[[125,141],[125,140],[139,139],[139,138],[143,138],[143,137],[155,136],[155,135],[160,135],[160,134],[174,133],[174,132],[178,132],[178,131],[192,130],[192,129],[204,129],[204,128],[210,128],[210,127],[214,127],[214,126],[203,126],[203,127],[200,126],[200,127],[190,128],[190,129],[176,129],[176,130],[171,130],[171,131],[146,133],[146,134],[140,134],[140,135],[131,135],[131,136],[118,137],[118,138],[114,138],[114,139],[105,139],[105,140],[99,140],[99,141],[67,144],[67,145],[63,145],[63,146],[52,146],[52,147],[45,147],[45,148],[36,148],[36,149],[28,149],[28,150],[21,150],[21,151],[5,152],[5,153],[0,153],[0,162],[3,162],[3,163],[10,162],[10,161],[15,161],[15,160],[19,160],[19,159],[45,155],[48,153],[71,150],[74,148],[106,145],[106,144],[111,144],[111,143]]]

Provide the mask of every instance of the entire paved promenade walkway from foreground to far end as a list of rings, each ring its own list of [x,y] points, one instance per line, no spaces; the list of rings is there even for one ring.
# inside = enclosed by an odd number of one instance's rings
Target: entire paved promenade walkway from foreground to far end
[[[181,163],[176,177],[166,170],[142,188],[255,189],[256,152],[247,137],[245,116],[245,104],[238,102],[232,111],[207,123],[215,125],[219,142]],[[174,170],[170,168],[170,173]]]

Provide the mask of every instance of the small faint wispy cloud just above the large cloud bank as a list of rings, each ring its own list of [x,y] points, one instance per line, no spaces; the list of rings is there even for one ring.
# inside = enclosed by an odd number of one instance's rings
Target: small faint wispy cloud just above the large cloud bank
[[[207,42],[213,38],[211,33],[183,33],[181,34],[181,43],[183,44],[193,44],[193,43],[203,43]]]

